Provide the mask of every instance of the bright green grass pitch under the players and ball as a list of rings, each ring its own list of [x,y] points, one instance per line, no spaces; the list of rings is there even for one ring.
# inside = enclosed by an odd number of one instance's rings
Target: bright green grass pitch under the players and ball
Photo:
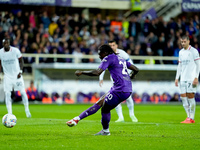
[[[111,111],[110,136],[94,136],[102,129],[101,113],[89,116],[75,127],[66,121],[91,105],[30,105],[32,118],[26,118],[22,104],[13,105],[17,124],[13,128],[0,125],[0,150],[165,150],[200,149],[200,106],[196,123],[180,124],[186,118],[182,104],[136,104],[138,123],[132,123],[123,104],[124,123],[115,123]],[[7,113],[0,105],[0,116]]]

